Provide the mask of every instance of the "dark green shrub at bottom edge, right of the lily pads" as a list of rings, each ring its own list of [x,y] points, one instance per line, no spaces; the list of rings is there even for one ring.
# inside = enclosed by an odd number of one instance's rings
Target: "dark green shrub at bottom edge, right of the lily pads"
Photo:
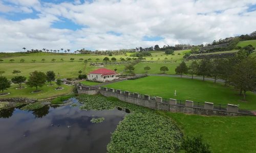
[[[202,135],[186,137],[181,146],[186,152],[191,153],[210,153],[210,145],[204,143]]]

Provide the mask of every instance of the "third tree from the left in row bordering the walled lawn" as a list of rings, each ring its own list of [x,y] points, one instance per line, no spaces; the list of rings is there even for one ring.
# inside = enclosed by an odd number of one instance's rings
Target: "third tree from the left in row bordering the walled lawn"
[[[204,81],[205,75],[210,75],[210,69],[211,69],[210,59],[202,59],[199,62],[198,75],[203,75],[203,81]]]

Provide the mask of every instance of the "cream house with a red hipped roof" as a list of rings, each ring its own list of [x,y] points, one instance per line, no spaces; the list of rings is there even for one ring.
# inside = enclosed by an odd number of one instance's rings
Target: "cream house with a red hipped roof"
[[[100,68],[90,72],[87,75],[87,79],[90,81],[108,82],[116,80],[118,79],[118,77],[116,71],[106,68]]]

